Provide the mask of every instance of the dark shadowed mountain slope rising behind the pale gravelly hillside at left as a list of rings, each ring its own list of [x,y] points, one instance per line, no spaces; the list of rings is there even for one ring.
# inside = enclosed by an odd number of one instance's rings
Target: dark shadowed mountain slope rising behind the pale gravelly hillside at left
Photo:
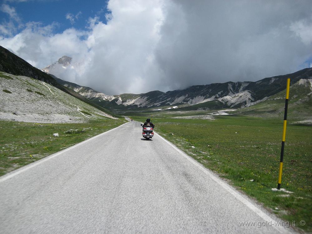
[[[16,76],[27,76],[34,78],[36,80],[44,81],[47,84],[53,85],[55,88],[85,102],[88,105],[92,105],[93,107],[103,111],[109,115],[115,116],[109,110],[104,109],[103,107],[97,105],[94,102],[91,102],[89,99],[84,96],[78,94],[72,89],[69,89],[63,85],[60,85],[54,77],[36,67],[33,67],[29,63],[27,63],[22,58],[16,56],[11,51],[5,49],[0,46],[0,71],[6,72]]]

